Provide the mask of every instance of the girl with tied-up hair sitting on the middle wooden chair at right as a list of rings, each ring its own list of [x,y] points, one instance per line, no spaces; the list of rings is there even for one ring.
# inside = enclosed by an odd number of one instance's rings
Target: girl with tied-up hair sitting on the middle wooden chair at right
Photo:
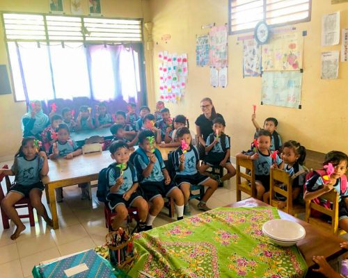
[[[294,140],[287,141],[283,145],[281,157],[285,163],[283,170],[292,177],[292,199],[303,203],[303,185],[306,178],[303,163],[306,159],[306,148]],[[284,185],[280,185],[280,188],[284,188]],[[264,199],[269,202],[269,193],[264,193]],[[278,199],[278,208],[285,208],[284,196],[275,194],[274,199]]]

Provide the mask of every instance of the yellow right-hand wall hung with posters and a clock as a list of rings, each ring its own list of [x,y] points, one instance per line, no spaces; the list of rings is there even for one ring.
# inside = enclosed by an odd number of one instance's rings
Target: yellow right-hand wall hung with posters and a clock
[[[341,10],[340,26],[348,28],[348,3],[331,5],[331,0],[313,0],[311,22],[294,24],[297,31],[308,32],[304,38],[301,110],[260,105],[261,78],[243,78],[242,42],[237,42],[240,35],[228,37],[227,88],[212,88],[209,68],[196,67],[196,35],[207,33],[207,29],[202,30],[202,25],[228,22],[228,0],[150,0],[150,10],[154,23],[154,68],[158,69],[159,51],[187,53],[189,58],[186,95],[179,104],[166,105],[171,115],[187,115],[195,130],[194,121],[201,113],[200,99],[212,98],[216,111],[225,117],[226,133],[232,140],[231,155],[234,156],[250,146],[255,132],[251,122],[252,105],[258,104],[258,122],[262,125],[266,117],[276,117],[283,140],[298,140],[318,152],[331,149],[348,152],[348,63],[340,63],[338,79],[320,79],[321,52],[340,49],[339,45],[320,46],[322,15]],[[161,41],[164,34],[171,35],[167,43]],[[158,100],[158,70],[155,70],[154,79],[155,99]]]

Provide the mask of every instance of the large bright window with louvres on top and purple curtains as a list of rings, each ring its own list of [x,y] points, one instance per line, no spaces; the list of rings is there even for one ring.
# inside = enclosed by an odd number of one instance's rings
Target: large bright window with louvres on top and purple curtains
[[[3,13],[17,101],[136,101],[141,90],[141,20]]]

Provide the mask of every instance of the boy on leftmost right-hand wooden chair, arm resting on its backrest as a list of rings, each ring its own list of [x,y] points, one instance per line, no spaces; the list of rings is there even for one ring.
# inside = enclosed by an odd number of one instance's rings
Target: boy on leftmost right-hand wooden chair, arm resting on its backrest
[[[267,202],[263,199],[264,193],[269,191],[269,170],[272,165],[283,168],[283,161],[276,155],[276,160],[271,158],[271,133],[267,130],[260,129],[256,134],[258,140],[258,147],[248,152],[239,153],[236,157],[251,159],[255,166],[255,186],[256,197],[261,201]],[[265,198],[267,195],[265,195]]]

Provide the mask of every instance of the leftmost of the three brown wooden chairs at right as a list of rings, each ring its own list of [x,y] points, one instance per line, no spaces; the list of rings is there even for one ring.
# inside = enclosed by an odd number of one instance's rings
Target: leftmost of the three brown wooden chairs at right
[[[241,167],[246,169],[245,173],[241,172]],[[255,187],[255,168],[251,159],[236,158],[236,180],[237,180],[237,202],[242,199],[242,192],[256,197]],[[242,178],[245,181],[242,181]]]

